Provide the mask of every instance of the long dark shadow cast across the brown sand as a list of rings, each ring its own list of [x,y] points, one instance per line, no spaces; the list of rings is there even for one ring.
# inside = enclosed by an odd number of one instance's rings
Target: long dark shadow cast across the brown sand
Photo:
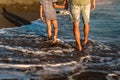
[[[15,26],[21,26],[21,25],[27,25],[31,24],[30,21],[25,20],[24,18],[21,18],[20,16],[17,16],[16,14],[13,14],[11,12],[8,12],[4,7],[2,8],[3,12],[2,15],[13,25]]]

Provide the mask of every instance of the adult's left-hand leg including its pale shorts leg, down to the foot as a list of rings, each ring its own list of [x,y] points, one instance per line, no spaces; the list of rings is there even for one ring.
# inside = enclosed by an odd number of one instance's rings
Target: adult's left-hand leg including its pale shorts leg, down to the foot
[[[79,23],[80,23],[80,6],[70,5],[70,17],[73,22],[73,34],[76,40],[77,48],[79,51],[82,50],[81,42],[80,42],[80,30],[79,30]]]

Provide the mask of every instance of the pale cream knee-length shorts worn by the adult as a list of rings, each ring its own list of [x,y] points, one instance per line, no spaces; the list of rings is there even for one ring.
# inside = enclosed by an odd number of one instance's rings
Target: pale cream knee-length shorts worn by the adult
[[[82,14],[84,24],[88,23],[90,18],[90,4],[86,6],[70,4],[70,17],[72,22],[80,22],[80,14]]]

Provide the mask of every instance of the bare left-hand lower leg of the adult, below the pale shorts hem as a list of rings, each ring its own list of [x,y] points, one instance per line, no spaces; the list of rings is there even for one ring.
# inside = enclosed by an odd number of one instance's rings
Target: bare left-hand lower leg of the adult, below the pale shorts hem
[[[76,40],[78,50],[81,51],[82,46],[81,46],[81,43],[80,43],[79,22],[73,22],[73,34],[74,34],[74,37],[75,37],[75,40]]]

